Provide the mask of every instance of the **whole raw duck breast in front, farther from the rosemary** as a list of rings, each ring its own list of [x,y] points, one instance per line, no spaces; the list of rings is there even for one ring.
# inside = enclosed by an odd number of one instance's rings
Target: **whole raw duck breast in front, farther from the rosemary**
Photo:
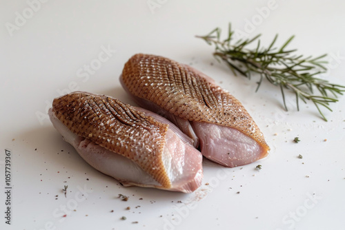
[[[87,163],[124,186],[189,193],[201,185],[201,153],[166,118],[83,92],[55,98],[49,116]]]

